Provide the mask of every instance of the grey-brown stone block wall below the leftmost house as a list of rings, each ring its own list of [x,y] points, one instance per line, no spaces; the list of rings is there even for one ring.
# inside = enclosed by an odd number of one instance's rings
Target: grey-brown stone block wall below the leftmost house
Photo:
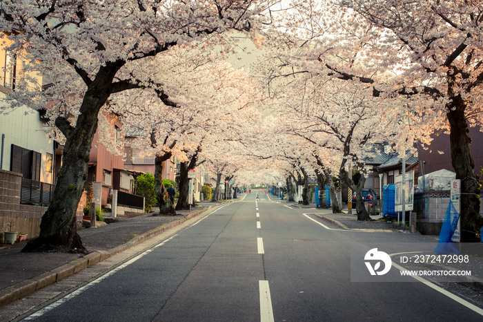
[[[3,231],[28,234],[28,238],[40,234],[40,221],[46,207],[20,205],[22,175],[0,170],[0,243],[3,243]]]

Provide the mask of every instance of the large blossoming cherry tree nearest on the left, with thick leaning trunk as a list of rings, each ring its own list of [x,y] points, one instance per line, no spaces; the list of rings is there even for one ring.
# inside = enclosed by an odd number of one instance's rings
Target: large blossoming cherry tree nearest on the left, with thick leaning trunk
[[[173,46],[231,44],[226,30],[253,33],[271,1],[2,1],[0,27],[14,40],[9,50],[28,54],[25,68],[50,77],[41,93],[28,91],[23,79],[12,97],[19,104],[50,104],[48,116],[65,136],[63,166],[54,200],[43,215],[39,238],[24,251],[63,247],[87,252],[76,231],[90,144],[101,107],[112,94],[154,88],[170,100],[166,84],[152,71],[162,69],[163,53]],[[260,19],[261,18],[261,19]],[[221,48],[223,50],[223,48]],[[159,75],[159,74],[158,74]],[[52,102],[54,102],[52,104]],[[126,107],[127,108],[127,107]]]

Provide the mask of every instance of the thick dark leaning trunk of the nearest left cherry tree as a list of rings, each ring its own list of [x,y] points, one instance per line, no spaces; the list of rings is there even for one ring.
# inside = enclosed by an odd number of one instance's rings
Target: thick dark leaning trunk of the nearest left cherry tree
[[[97,130],[97,115],[110,95],[110,86],[117,70],[124,64],[112,63],[99,69],[95,80],[84,94],[75,127],[58,117],[56,125],[66,135],[63,163],[52,202],[42,216],[39,237],[30,240],[22,252],[43,252],[63,249],[87,254],[77,234],[76,212],[87,180],[90,149]]]

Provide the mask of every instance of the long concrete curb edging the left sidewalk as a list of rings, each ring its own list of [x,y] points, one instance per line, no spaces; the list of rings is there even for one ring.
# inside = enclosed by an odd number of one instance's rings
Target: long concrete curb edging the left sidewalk
[[[131,240],[128,241],[128,243],[119,245],[115,248],[109,249],[108,251],[103,251],[103,250],[94,251],[92,253],[87,254],[86,256],[78,258],[75,261],[64,264],[55,269],[52,269],[50,272],[45,272],[43,274],[34,276],[26,281],[22,281],[15,285],[6,287],[3,290],[0,290],[0,307],[8,305],[14,301],[17,301],[18,299],[28,296],[29,294],[32,294],[33,292],[41,290],[43,287],[51,285],[55,282],[59,282],[64,278],[68,278],[69,276],[72,276],[78,272],[81,272],[82,269],[85,269],[101,261],[104,261],[107,258],[110,258],[111,256],[119,254],[120,252],[124,252],[126,249],[134,247],[135,245],[139,245],[140,243],[143,243],[145,240],[148,240],[154,236],[157,236],[168,229],[181,225],[181,223],[186,222],[186,220],[194,218],[195,216],[204,214],[206,211],[211,210],[214,207],[219,207],[221,205],[224,205],[225,203],[226,202],[221,203],[219,205],[208,206],[206,209],[195,211],[192,214],[188,214],[184,218],[169,222],[166,225],[157,227],[150,231],[146,231],[144,234],[141,234],[139,236],[136,236],[135,238],[132,238]]]

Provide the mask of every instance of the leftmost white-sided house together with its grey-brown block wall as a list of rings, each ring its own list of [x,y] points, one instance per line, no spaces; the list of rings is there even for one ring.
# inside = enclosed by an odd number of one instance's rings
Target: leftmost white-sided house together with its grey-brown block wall
[[[22,58],[9,53],[6,44],[0,42],[0,99],[26,76]],[[42,84],[39,75],[28,76]],[[44,131],[42,115],[28,106],[11,108],[0,102],[0,240],[7,223],[29,238],[38,236],[47,209],[39,205],[52,198],[57,145]]]

